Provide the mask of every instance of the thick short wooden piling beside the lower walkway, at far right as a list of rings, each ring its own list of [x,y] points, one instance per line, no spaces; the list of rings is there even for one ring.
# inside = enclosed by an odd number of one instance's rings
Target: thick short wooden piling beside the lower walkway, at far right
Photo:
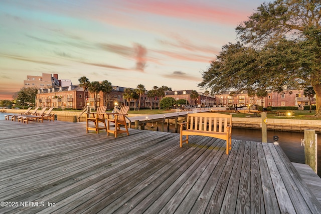
[[[317,173],[317,142],[315,130],[304,130],[304,161]]]

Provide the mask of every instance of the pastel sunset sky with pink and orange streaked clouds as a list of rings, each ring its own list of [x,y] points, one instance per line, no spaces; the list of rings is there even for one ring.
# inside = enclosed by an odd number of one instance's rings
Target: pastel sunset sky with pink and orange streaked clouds
[[[27,75],[198,87],[261,0],[0,0],[0,100]]]

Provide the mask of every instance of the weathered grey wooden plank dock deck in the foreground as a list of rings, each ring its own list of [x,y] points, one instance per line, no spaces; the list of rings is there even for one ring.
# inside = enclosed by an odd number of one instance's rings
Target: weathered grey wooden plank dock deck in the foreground
[[[321,213],[278,145],[0,120],[0,213]]]

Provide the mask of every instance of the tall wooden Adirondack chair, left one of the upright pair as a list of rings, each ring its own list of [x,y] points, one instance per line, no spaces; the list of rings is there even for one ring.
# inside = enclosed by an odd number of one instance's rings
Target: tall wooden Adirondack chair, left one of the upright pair
[[[106,106],[99,106],[97,108],[96,113],[88,113],[87,114],[87,127],[86,127],[86,131],[87,133],[89,132],[89,130],[95,130],[96,133],[98,134],[99,130],[101,129],[105,129],[107,131],[107,126],[106,126],[106,121],[105,121],[105,112],[106,112],[107,107]],[[90,127],[89,126],[89,122],[94,122],[95,123],[95,127]],[[104,127],[100,127],[99,128],[99,123],[103,123]]]

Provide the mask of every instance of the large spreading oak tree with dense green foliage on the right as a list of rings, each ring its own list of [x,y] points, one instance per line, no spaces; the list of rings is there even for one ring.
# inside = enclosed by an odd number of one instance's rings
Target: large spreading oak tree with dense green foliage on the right
[[[305,88],[321,116],[321,2],[276,0],[260,5],[236,28],[239,41],[222,48],[199,85],[223,92]],[[286,86],[286,87],[285,87]]]

